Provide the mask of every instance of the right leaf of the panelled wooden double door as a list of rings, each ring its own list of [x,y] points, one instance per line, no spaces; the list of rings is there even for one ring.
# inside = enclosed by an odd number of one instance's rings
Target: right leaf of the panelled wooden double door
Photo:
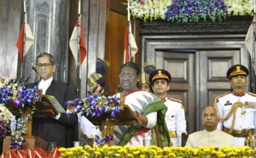
[[[197,129],[203,129],[201,123],[202,109],[213,105],[214,98],[231,90],[227,70],[241,62],[240,50],[202,50],[196,52],[198,65],[199,115]]]

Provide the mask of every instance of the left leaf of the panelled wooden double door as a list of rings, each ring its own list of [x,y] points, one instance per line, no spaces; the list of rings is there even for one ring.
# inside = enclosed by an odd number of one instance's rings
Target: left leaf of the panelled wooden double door
[[[195,51],[157,51],[157,68],[171,73],[168,97],[178,98],[185,107],[187,131],[196,130]]]

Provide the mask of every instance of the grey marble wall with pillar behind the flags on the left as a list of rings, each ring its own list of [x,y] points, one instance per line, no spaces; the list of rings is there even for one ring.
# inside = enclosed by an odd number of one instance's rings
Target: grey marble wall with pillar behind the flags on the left
[[[96,57],[104,58],[105,0],[82,0],[82,24],[87,57],[81,66],[81,96],[87,91],[87,78],[96,69]],[[26,0],[29,26],[35,42],[25,56],[26,78],[34,82],[32,70],[40,52],[54,56],[54,79],[69,82],[76,93],[77,73],[68,41],[77,21],[78,0]],[[21,61],[16,42],[23,19],[22,0],[0,0],[0,76],[21,77]],[[90,65],[88,65],[90,63]]]

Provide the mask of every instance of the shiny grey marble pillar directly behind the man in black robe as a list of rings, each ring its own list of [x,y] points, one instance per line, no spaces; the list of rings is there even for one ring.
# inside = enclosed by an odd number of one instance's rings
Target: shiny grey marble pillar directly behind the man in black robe
[[[40,52],[54,56],[54,79],[67,81],[69,4],[69,0],[27,0],[28,21],[35,38],[26,54],[25,76],[31,76],[29,82],[35,79],[31,65]]]

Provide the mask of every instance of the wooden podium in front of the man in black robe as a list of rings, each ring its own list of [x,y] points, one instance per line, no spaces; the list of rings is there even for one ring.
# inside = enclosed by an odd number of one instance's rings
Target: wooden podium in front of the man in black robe
[[[6,104],[5,107],[9,109],[9,111],[15,115],[19,116],[21,118],[26,118],[27,115],[58,115],[60,112],[65,112],[65,109],[60,105],[60,103],[57,101],[54,96],[41,96],[40,101],[35,101],[35,112],[32,114],[32,108],[29,106],[26,106],[24,109],[24,113],[22,115],[18,112],[20,109],[19,107],[16,107],[14,104],[14,101],[11,101],[9,104]],[[24,146],[22,146],[22,149],[27,150],[29,148],[43,148],[45,151],[47,151],[47,142],[43,140],[40,137],[36,137],[32,135],[32,117],[29,119],[29,121],[26,122],[26,135],[24,137]],[[8,151],[10,148],[10,141],[11,137],[4,138],[3,142],[3,152]]]

